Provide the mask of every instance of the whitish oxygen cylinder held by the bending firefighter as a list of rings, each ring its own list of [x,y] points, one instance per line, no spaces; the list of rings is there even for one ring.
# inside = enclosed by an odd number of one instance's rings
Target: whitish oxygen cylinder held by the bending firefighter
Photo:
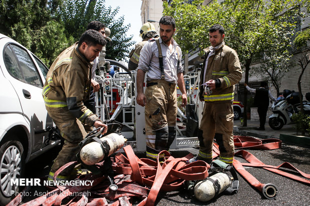
[[[116,133],[108,134],[102,138],[101,141],[106,141],[110,146],[108,156],[119,150],[125,143],[126,139],[122,135]],[[104,158],[104,152],[102,146],[98,142],[91,142],[82,147],[79,152],[80,160],[85,165],[94,165]]]

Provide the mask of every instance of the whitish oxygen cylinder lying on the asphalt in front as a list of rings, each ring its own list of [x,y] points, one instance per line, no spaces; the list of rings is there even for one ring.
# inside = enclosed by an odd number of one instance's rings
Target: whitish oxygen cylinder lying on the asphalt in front
[[[207,202],[215,197],[216,190],[219,190],[217,194],[222,193],[231,185],[231,179],[226,173],[216,173],[209,177],[214,181],[218,181],[219,188],[215,189],[214,184],[209,180],[203,180],[198,182],[194,187],[194,195],[197,200],[201,202]]]

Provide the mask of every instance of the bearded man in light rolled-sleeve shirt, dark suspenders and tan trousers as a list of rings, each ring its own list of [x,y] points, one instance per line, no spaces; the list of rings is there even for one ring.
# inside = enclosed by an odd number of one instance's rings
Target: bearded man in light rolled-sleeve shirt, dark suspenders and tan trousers
[[[141,49],[136,75],[136,102],[145,106],[146,156],[152,159],[156,159],[160,151],[168,150],[176,135],[176,84],[182,93],[181,106],[187,103],[181,49],[172,38],[174,18],[162,16],[159,27],[160,38],[149,39]]]

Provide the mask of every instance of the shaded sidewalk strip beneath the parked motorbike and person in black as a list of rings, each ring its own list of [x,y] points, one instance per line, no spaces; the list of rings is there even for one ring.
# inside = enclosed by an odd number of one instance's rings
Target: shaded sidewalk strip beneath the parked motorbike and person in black
[[[255,130],[255,128],[257,127],[259,127],[258,121],[251,122],[250,120],[247,120],[246,127],[243,127],[243,125],[241,125],[240,120],[233,121],[233,131],[239,132],[246,136],[253,136],[263,139],[267,138],[279,139],[280,134],[286,134],[286,135],[296,134],[295,124],[284,125],[280,130],[271,129],[268,125],[268,122],[266,122],[265,124],[265,131]]]

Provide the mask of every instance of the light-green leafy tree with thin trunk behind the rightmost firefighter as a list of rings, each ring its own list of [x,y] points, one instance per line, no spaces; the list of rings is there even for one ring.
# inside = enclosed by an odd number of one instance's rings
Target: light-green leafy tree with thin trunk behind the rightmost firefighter
[[[245,69],[245,83],[248,83],[254,55],[268,54],[279,48],[285,50],[289,44],[295,27],[291,19],[298,15],[300,1],[225,0],[219,4],[214,0],[202,6],[202,0],[194,0],[192,4],[173,0],[170,7],[164,4],[164,13],[175,17],[175,38],[185,51],[196,46],[200,49],[209,46],[207,29],[215,23],[223,25],[225,44],[237,51]],[[244,99],[246,111],[246,92]],[[246,119],[244,113],[243,126],[246,126]]]

